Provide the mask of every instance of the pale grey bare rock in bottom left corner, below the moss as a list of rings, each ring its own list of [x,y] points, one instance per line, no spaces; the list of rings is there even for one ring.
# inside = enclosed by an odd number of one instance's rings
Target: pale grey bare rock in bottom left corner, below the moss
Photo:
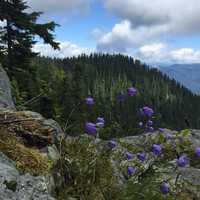
[[[0,154],[0,200],[55,200],[47,177],[20,175],[13,161]],[[16,183],[16,188],[8,187]]]

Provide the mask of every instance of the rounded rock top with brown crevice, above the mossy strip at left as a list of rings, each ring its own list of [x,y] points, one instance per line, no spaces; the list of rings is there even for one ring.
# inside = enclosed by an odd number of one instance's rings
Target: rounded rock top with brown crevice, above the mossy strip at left
[[[38,149],[55,144],[63,134],[57,122],[31,111],[1,111],[0,125],[26,146]]]

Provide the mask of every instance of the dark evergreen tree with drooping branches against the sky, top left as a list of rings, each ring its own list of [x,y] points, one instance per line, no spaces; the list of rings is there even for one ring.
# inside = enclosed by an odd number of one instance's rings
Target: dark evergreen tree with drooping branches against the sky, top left
[[[32,52],[32,47],[36,43],[35,36],[42,38],[54,49],[59,48],[53,35],[57,24],[54,22],[37,23],[42,13],[29,13],[28,8],[23,0],[0,1],[0,20],[4,22],[0,26],[0,55],[6,58],[7,62],[3,64],[9,72],[28,69],[30,58],[37,55]]]

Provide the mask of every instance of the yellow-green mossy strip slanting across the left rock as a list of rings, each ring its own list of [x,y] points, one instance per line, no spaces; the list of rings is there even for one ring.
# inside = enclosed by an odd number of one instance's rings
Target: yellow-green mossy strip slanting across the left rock
[[[16,162],[16,166],[31,175],[45,175],[52,168],[52,162],[38,149],[26,147],[5,128],[0,129],[0,151]]]

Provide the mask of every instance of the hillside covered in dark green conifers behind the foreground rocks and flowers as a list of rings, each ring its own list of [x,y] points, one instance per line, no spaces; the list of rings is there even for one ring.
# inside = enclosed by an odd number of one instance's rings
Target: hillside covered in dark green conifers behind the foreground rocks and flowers
[[[155,127],[200,127],[200,97],[131,57],[37,57],[26,73],[23,81],[17,75],[13,78],[18,108],[53,117],[72,135],[80,134],[83,124],[98,116],[108,123],[102,136],[137,134],[143,105],[154,108]],[[133,98],[126,96],[131,86],[138,90]],[[88,96],[95,100],[92,109],[83,103]]]

